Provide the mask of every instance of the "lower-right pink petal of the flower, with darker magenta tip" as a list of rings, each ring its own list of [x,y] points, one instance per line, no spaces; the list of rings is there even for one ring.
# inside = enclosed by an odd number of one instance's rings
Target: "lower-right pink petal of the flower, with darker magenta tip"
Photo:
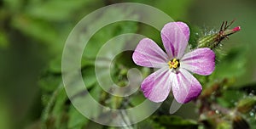
[[[189,71],[180,69],[173,78],[172,93],[178,103],[185,104],[201,94],[201,84]]]

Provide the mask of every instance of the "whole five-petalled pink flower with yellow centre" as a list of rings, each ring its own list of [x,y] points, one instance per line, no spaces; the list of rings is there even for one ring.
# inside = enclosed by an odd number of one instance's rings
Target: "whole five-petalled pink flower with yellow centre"
[[[215,67],[215,53],[210,48],[197,48],[184,53],[189,42],[189,26],[170,22],[161,30],[166,53],[151,39],[142,39],[132,59],[138,65],[159,68],[142,82],[144,96],[162,102],[171,88],[178,103],[185,104],[201,94],[201,84],[190,74],[207,76]],[[190,72],[189,72],[190,71]]]

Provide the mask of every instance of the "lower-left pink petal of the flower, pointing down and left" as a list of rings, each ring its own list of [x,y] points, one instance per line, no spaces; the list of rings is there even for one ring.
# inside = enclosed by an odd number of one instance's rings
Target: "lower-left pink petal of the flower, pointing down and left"
[[[141,86],[144,96],[156,103],[164,101],[170,93],[173,76],[168,67],[149,75]]]

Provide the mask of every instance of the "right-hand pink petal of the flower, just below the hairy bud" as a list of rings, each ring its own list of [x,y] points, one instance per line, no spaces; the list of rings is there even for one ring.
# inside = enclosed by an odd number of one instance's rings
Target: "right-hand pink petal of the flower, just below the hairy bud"
[[[210,48],[195,49],[183,56],[180,66],[199,75],[210,75],[215,68],[215,53]]]

